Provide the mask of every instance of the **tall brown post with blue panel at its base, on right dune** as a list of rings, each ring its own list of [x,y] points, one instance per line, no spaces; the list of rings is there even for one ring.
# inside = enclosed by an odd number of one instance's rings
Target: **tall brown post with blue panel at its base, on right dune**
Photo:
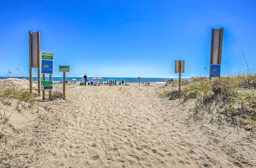
[[[223,28],[211,30],[209,78],[220,76]],[[214,65],[214,66],[212,66]],[[214,74],[211,74],[214,73]]]

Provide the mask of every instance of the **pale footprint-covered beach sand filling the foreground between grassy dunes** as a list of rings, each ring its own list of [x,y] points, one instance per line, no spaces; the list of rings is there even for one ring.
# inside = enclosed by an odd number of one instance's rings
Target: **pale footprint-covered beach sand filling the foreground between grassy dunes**
[[[61,90],[61,86],[55,86]],[[233,128],[191,122],[190,104],[163,86],[69,85],[66,100],[39,101],[40,116],[0,143],[0,166],[247,167],[255,143]],[[15,111],[11,117],[15,118]],[[20,115],[20,114],[19,114]],[[34,116],[37,116],[36,119]],[[20,117],[19,117],[20,118]],[[15,123],[12,123],[15,126]]]

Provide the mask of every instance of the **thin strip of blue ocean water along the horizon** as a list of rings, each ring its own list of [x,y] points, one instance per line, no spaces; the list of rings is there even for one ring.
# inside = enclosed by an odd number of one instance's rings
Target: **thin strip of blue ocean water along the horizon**
[[[6,79],[10,77],[0,77],[0,79]],[[12,78],[26,78],[29,80],[29,77],[12,77]],[[108,80],[116,80],[116,81],[124,81],[124,82],[139,82],[137,77],[102,77],[103,79],[92,79],[93,77],[89,77],[89,81],[108,81]],[[82,77],[66,77],[66,80],[68,81],[73,81],[71,79],[76,79],[76,81],[81,81],[83,78]],[[170,78],[147,78],[147,77],[141,77],[140,81],[141,82],[166,82]],[[177,80],[178,78],[173,78],[174,80]],[[182,79],[187,79],[188,78],[182,78]],[[42,80],[42,78],[41,78]],[[49,80],[49,77],[46,77],[46,80]],[[37,81],[37,77],[33,77],[33,81]],[[63,81],[62,77],[52,77],[52,81]]]

